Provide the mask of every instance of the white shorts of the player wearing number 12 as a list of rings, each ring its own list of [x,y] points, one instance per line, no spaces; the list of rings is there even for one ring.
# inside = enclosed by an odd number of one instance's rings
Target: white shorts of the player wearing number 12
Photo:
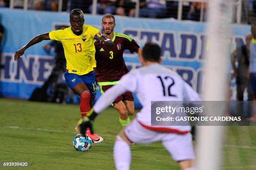
[[[192,135],[190,133],[180,135],[148,130],[141,126],[136,119],[124,128],[124,133],[132,143],[149,144],[161,141],[164,148],[168,150],[176,161],[195,159]]]

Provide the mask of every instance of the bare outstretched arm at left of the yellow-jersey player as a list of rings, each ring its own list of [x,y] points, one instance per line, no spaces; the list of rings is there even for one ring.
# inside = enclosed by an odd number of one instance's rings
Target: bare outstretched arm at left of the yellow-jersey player
[[[20,56],[24,54],[25,50],[28,47],[30,47],[34,44],[37,44],[38,42],[41,42],[42,40],[50,40],[49,32],[37,35],[32,40],[30,40],[26,45],[24,45],[22,48],[20,48],[20,50],[17,50],[14,55],[14,61],[18,60],[20,58]]]

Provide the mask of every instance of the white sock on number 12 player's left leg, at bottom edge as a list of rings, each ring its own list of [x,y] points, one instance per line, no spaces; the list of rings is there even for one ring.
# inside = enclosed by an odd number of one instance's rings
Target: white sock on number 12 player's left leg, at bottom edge
[[[130,145],[126,143],[119,135],[114,145],[114,160],[117,170],[129,170],[131,163]]]

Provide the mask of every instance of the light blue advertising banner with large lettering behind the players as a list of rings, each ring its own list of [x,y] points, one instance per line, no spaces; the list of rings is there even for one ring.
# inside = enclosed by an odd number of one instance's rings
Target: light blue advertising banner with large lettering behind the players
[[[202,93],[203,53],[207,49],[205,23],[115,17],[116,32],[131,36],[141,47],[148,41],[158,42],[162,47],[162,64]],[[101,19],[100,15],[85,15],[85,24],[101,30]],[[1,9],[0,23],[5,28],[1,47],[4,68],[0,73],[0,95],[28,99],[33,90],[49,77],[54,52],[46,53],[42,46],[50,41],[43,41],[28,48],[22,60],[14,62],[14,53],[36,35],[56,30],[60,25],[69,25],[69,14]],[[248,25],[233,25],[232,48],[243,45],[248,33]],[[141,66],[136,53],[125,52],[124,58],[128,69]],[[231,69],[230,65],[227,67]],[[231,75],[232,99],[236,98],[234,85]],[[135,104],[138,106],[138,101]]]

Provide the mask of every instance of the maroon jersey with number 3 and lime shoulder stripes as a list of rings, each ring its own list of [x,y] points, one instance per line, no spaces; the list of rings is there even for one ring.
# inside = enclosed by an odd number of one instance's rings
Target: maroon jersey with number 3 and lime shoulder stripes
[[[114,46],[106,46],[97,42],[95,45],[96,69],[95,76],[97,82],[118,81],[128,72],[123,60],[123,51],[129,50],[131,53],[138,51],[138,44],[129,36],[114,32]]]

